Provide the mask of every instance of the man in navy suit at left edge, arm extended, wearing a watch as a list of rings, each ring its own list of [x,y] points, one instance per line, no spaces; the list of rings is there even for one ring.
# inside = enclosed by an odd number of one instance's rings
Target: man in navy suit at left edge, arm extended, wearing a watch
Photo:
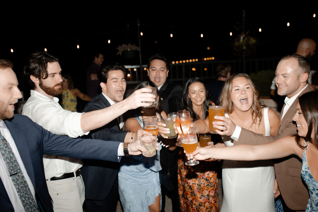
[[[22,115],[14,116],[14,104],[22,98],[18,81],[12,70],[12,63],[0,59],[0,133],[8,142],[21,172],[29,186],[29,192],[37,202],[39,211],[53,211],[44,175],[43,154],[61,155],[73,158],[98,159],[118,162],[124,154],[120,142],[73,139],[53,134]],[[1,138],[2,139],[2,138]],[[146,151],[139,142],[128,145],[128,153],[140,154]],[[125,150],[126,151],[126,150]],[[0,206],[3,211],[23,211],[23,202],[8,172],[8,161],[0,152]],[[127,152],[126,152],[127,153]],[[25,171],[24,171],[25,170]],[[25,187],[24,187],[25,188]],[[20,193],[20,192],[18,192]],[[34,208],[36,211],[37,208]],[[33,210],[32,210],[33,211]]]

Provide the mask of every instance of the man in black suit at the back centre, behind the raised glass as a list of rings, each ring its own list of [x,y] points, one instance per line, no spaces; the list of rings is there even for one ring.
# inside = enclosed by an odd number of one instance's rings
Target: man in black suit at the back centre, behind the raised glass
[[[167,114],[177,112],[178,110],[183,110],[183,88],[180,85],[176,85],[173,82],[167,80],[169,73],[168,60],[160,54],[151,56],[149,58],[147,72],[150,81],[158,87],[158,90],[160,92],[162,110]],[[161,211],[164,211],[165,194],[171,197],[173,211],[180,211],[177,181],[177,159],[179,150],[179,148],[176,148],[176,150],[174,151],[169,151],[166,148],[162,148],[160,150],[160,163],[162,167],[160,174],[167,174],[168,165],[173,183],[173,191],[171,192],[168,192],[168,190],[163,185],[161,185]]]

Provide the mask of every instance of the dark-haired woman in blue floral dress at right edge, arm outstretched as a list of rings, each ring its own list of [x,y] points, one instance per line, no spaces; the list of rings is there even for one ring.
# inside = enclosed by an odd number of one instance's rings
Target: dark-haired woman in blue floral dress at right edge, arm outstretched
[[[302,158],[301,177],[309,190],[306,212],[318,211],[318,91],[299,97],[293,120],[297,135],[283,137],[262,145],[236,145],[225,148],[198,148],[193,152],[196,160],[218,158],[255,161],[297,155]],[[310,144],[311,143],[311,144]],[[297,192],[297,191],[295,191]]]

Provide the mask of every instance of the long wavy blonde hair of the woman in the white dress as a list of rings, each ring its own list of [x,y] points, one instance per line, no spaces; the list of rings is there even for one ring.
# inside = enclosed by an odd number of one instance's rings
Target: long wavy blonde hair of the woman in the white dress
[[[232,84],[233,80],[238,77],[244,77],[247,82],[250,84],[251,89],[253,91],[253,101],[252,101],[252,124],[258,124],[260,125],[260,121],[262,119],[262,103],[259,97],[259,92],[256,89],[254,83],[249,78],[249,76],[245,73],[237,73],[233,74],[224,84],[222,92],[219,97],[220,106],[224,106],[224,113],[231,114],[233,113],[234,106],[231,99],[231,93],[232,93]],[[252,126],[251,124],[251,126]]]

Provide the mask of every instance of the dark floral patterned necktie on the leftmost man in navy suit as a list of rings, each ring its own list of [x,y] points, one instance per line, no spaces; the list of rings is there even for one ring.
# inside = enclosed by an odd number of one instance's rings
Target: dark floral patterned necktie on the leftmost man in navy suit
[[[0,153],[7,165],[11,180],[17,190],[25,211],[38,211],[37,204],[32,196],[28,183],[22,174],[21,168],[14,156],[8,141],[0,133]]]

